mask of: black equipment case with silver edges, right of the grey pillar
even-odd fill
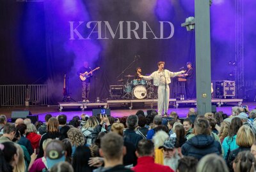
[[[220,99],[234,98],[236,96],[236,83],[227,80],[215,82],[215,95],[216,98]]]

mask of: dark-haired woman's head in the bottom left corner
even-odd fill
[[[4,163],[1,163],[0,166],[2,166],[2,168],[5,168],[8,172],[13,171],[14,167],[19,161],[19,152],[17,150],[17,147],[15,147],[15,143],[13,143],[12,141],[0,143],[0,152],[3,152],[4,157]],[[1,157],[2,156],[0,156],[0,159]]]

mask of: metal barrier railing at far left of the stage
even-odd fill
[[[47,85],[0,85],[1,106],[47,105]]]

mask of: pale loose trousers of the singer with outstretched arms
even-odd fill
[[[163,115],[164,112],[168,111],[169,107],[169,98],[170,98],[170,88],[169,85],[159,85],[157,89],[158,94],[158,101],[157,101],[157,108],[158,108],[158,115]],[[164,112],[163,112],[164,110]]]

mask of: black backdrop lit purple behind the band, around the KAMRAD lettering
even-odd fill
[[[193,16],[179,1],[48,1],[19,3],[14,0],[0,1],[1,36],[1,84],[49,85],[51,104],[62,99],[63,75],[69,78],[71,97],[81,98],[81,83],[76,75],[83,61],[89,61],[91,68],[100,66],[92,79],[90,99],[107,98],[109,85],[116,85],[116,78],[133,61],[140,59],[125,71],[134,74],[140,66],[143,73],[157,69],[158,61],[165,61],[166,68],[179,71],[186,62],[195,62],[195,32],[187,32],[180,24],[186,17]],[[193,4],[191,4],[193,6]],[[119,21],[147,21],[159,35],[159,21],[170,21],[175,32],[171,39],[94,39],[70,40],[70,21],[108,21],[113,30]],[[214,21],[211,21],[213,23]],[[170,31],[164,28],[166,32]],[[79,28],[82,34],[88,33]],[[125,31],[125,29],[124,29]],[[234,31],[223,45],[212,40],[212,78],[227,79],[221,54],[229,51],[234,55]],[[214,37],[214,36],[213,36]],[[218,74],[216,74],[218,73]],[[95,85],[95,88],[94,88]]]

